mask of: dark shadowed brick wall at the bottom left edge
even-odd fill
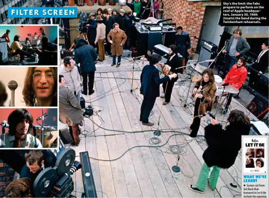
[[[13,181],[15,171],[0,159],[0,197],[5,196],[6,186]]]

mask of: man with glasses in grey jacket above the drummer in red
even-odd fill
[[[231,36],[228,43],[225,45],[222,53],[227,53],[226,56],[226,67],[228,71],[230,68],[236,64],[239,57],[244,57],[245,52],[250,49],[247,39],[242,37],[242,30],[236,29],[233,31],[233,36]]]

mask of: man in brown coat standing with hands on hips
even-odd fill
[[[121,65],[122,55],[124,53],[123,45],[127,40],[127,36],[124,31],[120,29],[118,23],[115,22],[113,24],[113,28],[114,29],[110,30],[110,32],[108,33],[107,40],[111,44],[111,53],[113,56],[113,63],[111,66],[116,65],[116,56],[118,56],[118,62],[116,67],[119,67]]]

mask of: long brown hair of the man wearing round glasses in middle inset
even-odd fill
[[[28,107],[34,107],[35,106],[35,92],[32,88],[32,83],[33,83],[33,74],[34,70],[36,67],[28,67],[25,79],[24,79],[24,86],[22,89],[22,95],[23,95],[23,100]],[[52,107],[55,105],[57,106],[57,82],[58,82],[58,76],[57,76],[57,67],[50,67],[51,72],[53,74],[53,79],[54,79],[54,87],[52,91],[53,99],[52,99]]]

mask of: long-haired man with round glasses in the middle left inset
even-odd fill
[[[22,95],[28,107],[57,107],[57,67],[28,67]]]

